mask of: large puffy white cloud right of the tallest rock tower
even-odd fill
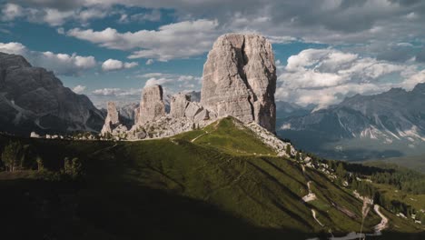
[[[424,76],[414,65],[392,64],[332,48],[306,49],[287,62],[280,70],[276,98],[319,108],[337,104],[349,95],[411,88]]]

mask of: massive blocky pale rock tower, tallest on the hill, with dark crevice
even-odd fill
[[[232,115],[275,132],[276,67],[261,35],[222,35],[203,66],[201,104],[218,117]]]

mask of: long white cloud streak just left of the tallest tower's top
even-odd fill
[[[129,58],[152,58],[167,61],[201,55],[217,37],[217,21],[200,19],[163,25],[158,30],[119,33],[114,28],[103,31],[74,28],[67,35],[110,49],[133,50]]]

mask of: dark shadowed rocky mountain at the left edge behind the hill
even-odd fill
[[[0,131],[19,135],[100,131],[104,115],[44,68],[0,53]]]

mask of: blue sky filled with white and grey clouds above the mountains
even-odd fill
[[[324,108],[425,82],[422,0],[0,1],[0,52],[54,71],[95,105],[145,85],[199,91],[218,36],[272,42],[276,99]]]

